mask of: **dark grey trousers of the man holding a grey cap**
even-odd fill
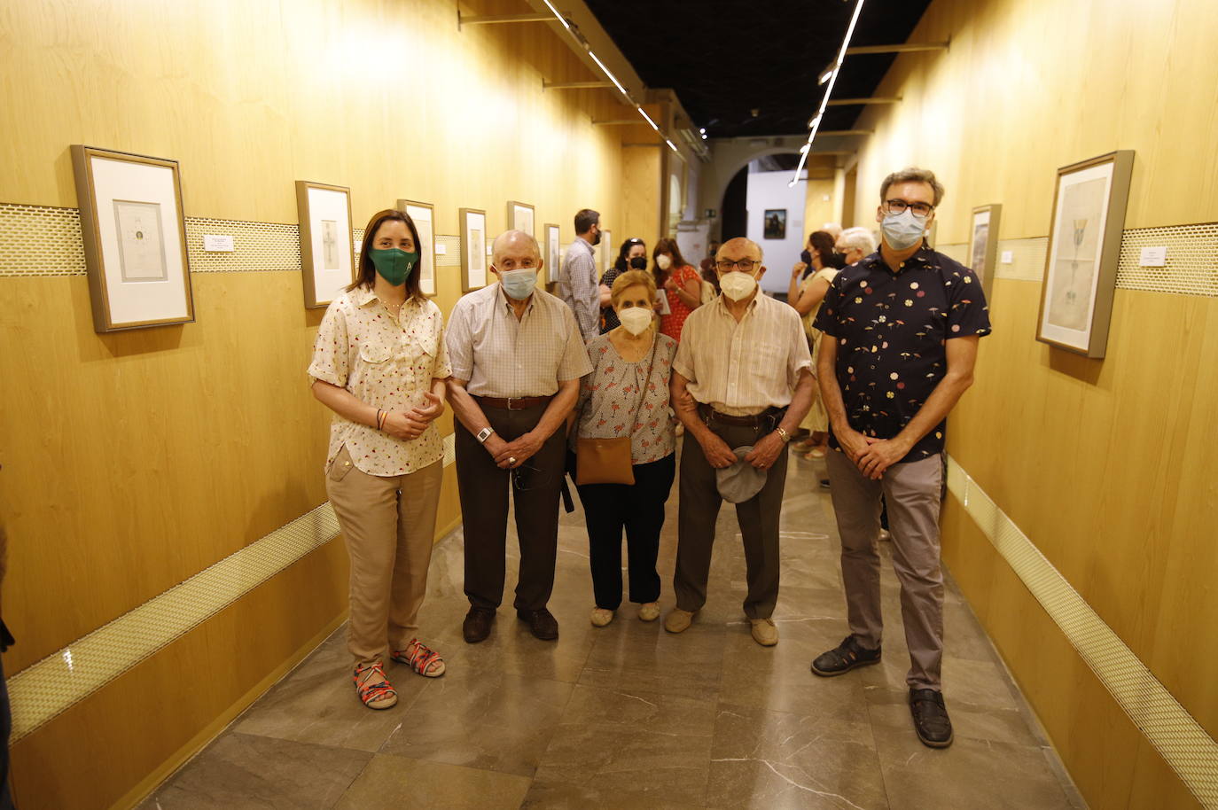
[[[709,426],[732,448],[755,445],[761,436],[773,430],[770,420],[758,428],[725,425],[714,420]],[[787,451],[783,448],[778,460],[770,468],[761,491],[736,504],[749,585],[744,598],[744,615],[749,619],[769,619],[778,602],[778,516],[786,482]],[[698,440],[688,434],[681,451],[680,493],[677,565],[672,590],[676,592],[677,607],[694,611],[706,603],[715,521],[723,498],[715,485],[715,468],[706,460]]]

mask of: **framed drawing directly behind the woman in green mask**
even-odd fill
[[[351,189],[296,180],[296,213],[301,228],[304,308],[320,309],[356,280]],[[365,238],[371,239],[373,234]]]

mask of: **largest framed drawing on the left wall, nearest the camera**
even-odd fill
[[[93,328],[195,319],[178,161],[72,146]]]

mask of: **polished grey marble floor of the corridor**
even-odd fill
[[[447,674],[391,665],[393,709],[359,704],[340,629],[143,808],[1083,808],[993,646],[949,581],[946,750],[910,725],[899,590],[884,568],[884,661],[832,680],[811,659],[845,635],[823,463],[792,458],[783,505],[781,641],[759,647],[741,613],[744,557],[720,514],[709,598],[667,635],[625,604],[588,622],[579,510],[563,515],[551,609],[557,643],[501,609],[490,639],[460,638],[460,532],[437,547],[421,615]],[[671,607],[676,487],[660,551]],[[509,540],[509,547],[514,540]],[[887,557],[887,543],[882,543]],[[514,563],[509,560],[505,604]]]

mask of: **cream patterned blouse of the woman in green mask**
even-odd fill
[[[452,374],[443,333],[435,302],[408,298],[395,318],[369,287],[356,287],[325,311],[308,374],[381,410],[426,406],[423,393],[431,381]],[[354,465],[369,475],[407,475],[445,456],[435,424],[407,440],[334,414],[326,469],[343,445]]]

